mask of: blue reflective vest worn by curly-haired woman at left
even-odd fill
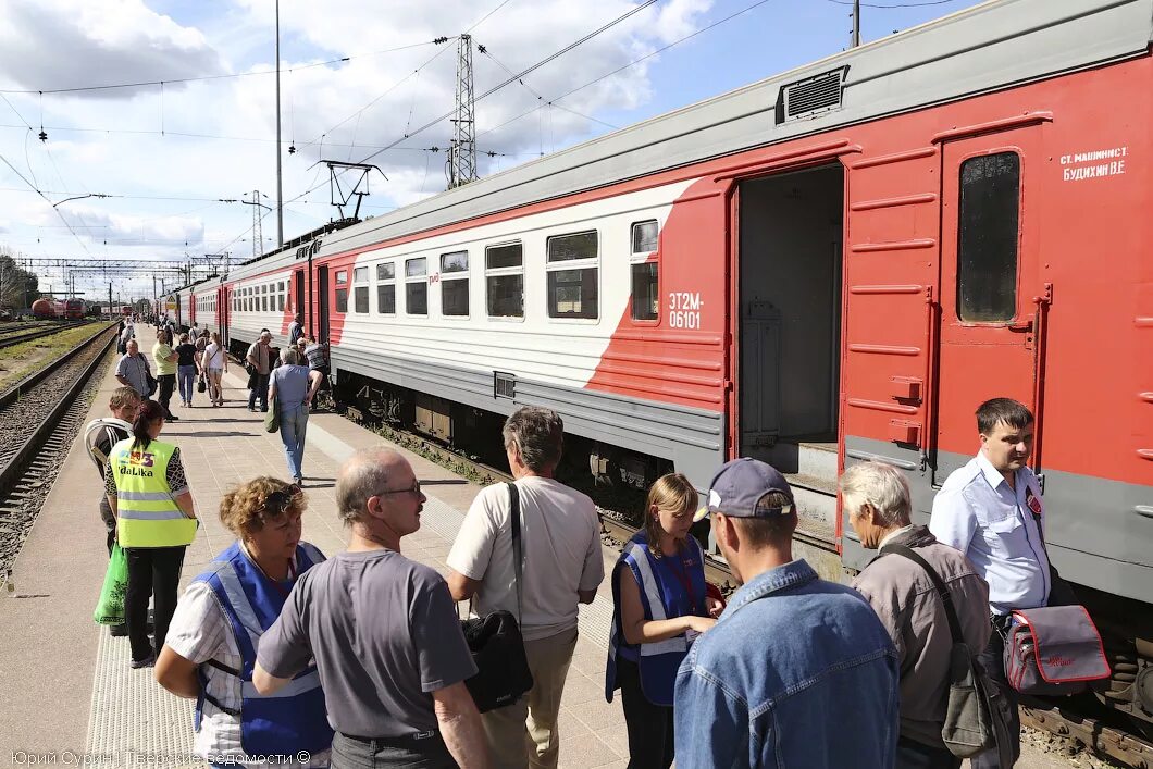
[[[315,546],[303,542],[296,545],[297,574],[303,574],[323,560],[324,555]],[[208,700],[240,721],[241,747],[250,756],[287,755],[300,751],[321,753],[329,749],[332,745],[332,727],[329,726],[316,665],[309,665],[292,683],[269,696],[257,692],[253,685],[261,635],[280,616],[287,596],[249,560],[239,542],[217,556],[209,570],[194,581],[204,582],[212,588],[243,661],[241,670],[232,670],[214,661],[205,663],[240,679],[239,711],[221,707],[211,699],[206,693],[203,670],[198,671],[201,695],[196,700],[196,731],[201,729],[204,702]]]

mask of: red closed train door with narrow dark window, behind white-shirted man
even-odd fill
[[[1048,288],[1034,201],[1045,158],[1040,119],[1013,123],[935,138],[942,144],[935,485],[977,452],[974,412],[989,398],[1033,410],[1034,469],[1040,465]]]

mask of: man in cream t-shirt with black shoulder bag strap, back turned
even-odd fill
[[[512,612],[525,639],[533,688],[482,716],[495,763],[556,767],[557,716],[576,646],[576,606],[591,603],[604,579],[601,522],[591,499],[553,478],[564,438],[556,412],[520,408],[503,433],[517,482],[490,485],[473,500],[449,553],[449,587],[457,601],[473,598],[481,617]],[[520,600],[510,485],[520,500]]]

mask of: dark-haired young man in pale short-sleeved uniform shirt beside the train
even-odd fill
[[[933,500],[929,531],[965,553],[989,585],[993,634],[978,657],[1012,703],[1019,734],[1017,693],[1004,677],[1004,639],[1015,609],[1075,603],[1069,586],[1049,566],[1045,549],[1041,485],[1028,468],[1033,414],[1011,398],[987,400],[977,409],[981,450],[954,470]],[[1057,583],[1054,585],[1054,581]],[[1013,746],[1013,760],[1020,744]],[[996,751],[971,759],[974,769],[998,767]]]

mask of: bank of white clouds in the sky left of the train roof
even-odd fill
[[[284,149],[295,141],[299,150],[281,156],[284,197],[291,201],[319,186],[287,205],[286,238],[337,216],[326,205],[327,169],[315,165],[321,158],[361,160],[400,140],[399,148],[370,160],[389,181],[371,180],[374,195],[366,199],[362,217],[444,189],[451,123],[445,120],[404,137],[452,110],[457,42],[383,51],[454,36],[497,5],[497,0],[409,0],[382,7],[368,0],[281,0]],[[519,71],[635,5],[512,0],[473,31],[474,43],[489,51],[489,55],[474,51],[476,93],[508,77],[497,61]],[[702,23],[710,5],[711,0],[662,0],[535,70],[525,83],[545,100],[572,91],[688,33]],[[164,6],[169,15],[153,7],[142,0],[0,3],[0,86],[35,90],[265,73],[274,65],[271,2],[169,0]],[[309,66],[341,55],[352,59]],[[638,107],[650,98],[648,68],[656,61],[628,68],[559,104],[586,115]],[[559,107],[513,120],[541,104],[529,88],[513,83],[477,104],[478,149],[502,153],[482,156],[482,173],[604,133],[604,126]],[[240,198],[253,189],[276,196],[271,75],[168,84],[163,93],[158,86],[148,86],[43,100],[35,95],[8,95],[8,99],[20,114],[0,101],[0,123],[16,126],[0,128],[0,154],[40,189],[51,190],[53,202],[86,193],[134,196],[61,206],[77,225],[82,246],[35,195],[3,191],[25,184],[0,164],[0,205],[27,213],[12,214],[17,224],[3,239],[15,249],[77,257],[85,256],[85,248],[93,256],[151,249],[160,259],[181,257],[186,250],[224,248],[239,258],[250,255],[251,208],[216,201]],[[338,126],[349,115],[355,116]],[[48,133],[46,145],[35,138],[42,120]],[[23,121],[33,130],[24,128]],[[502,126],[507,121],[512,122]],[[432,146],[440,151],[423,151]],[[161,197],[189,199],[141,199]],[[81,229],[80,225],[85,226]],[[276,238],[274,213],[265,217],[263,228],[266,240]]]

